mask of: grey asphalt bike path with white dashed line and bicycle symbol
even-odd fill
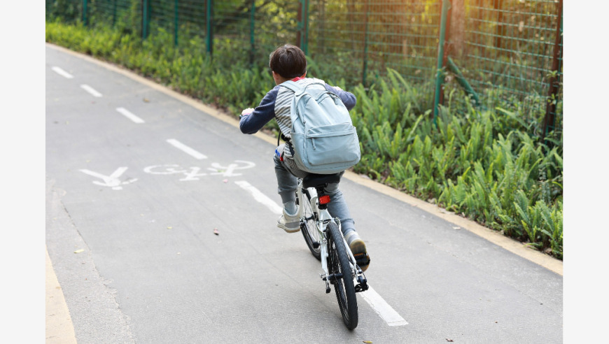
[[[302,234],[276,227],[268,139],[52,45],[45,80],[48,276],[69,312],[48,307],[62,320],[48,341],[562,342],[555,263],[352,173],[372,290],[348,331]]]

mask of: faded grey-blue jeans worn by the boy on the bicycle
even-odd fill
[[[296,168],[293,161],[284,159],[283,162],[279,160],[277,155],[273,155],[275,162],[275,175],[277,176],[277,185],[279,196],[281,196],[281,202],[287,203],[290,201],[296,201],[296,189],[298,187],[297,178],[304,178],[309,173],[300,171]],[[290,162],[292,164],[290,164]],[[344,171],[340,173],[341,177]],[[350,231],[355,231],[355,222],[351,213],[349,213],[349,207],[346,206],[346,201],[342,192],[338,189],[337,182],[330,183],[323,190],[328,196],[330,196],[330,203],[328,203],[328,211],[333,217],[340,219],[341,229],[343,234],[347,234]]]

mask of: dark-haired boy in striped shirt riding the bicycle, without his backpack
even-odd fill
[[[239,128],[244,134],[254,134],[272,119],[279,124],[281,135],[286,138],[286,144],[278,149],[279,155],[274,155],[275,175],[278,192],[283,203],[283,215],[277,220],[277,227],[288,233],[300,231],[300,219],[297,217],[296,196],[297,178],[304,178],[309,173],[297,168],[293,159],[293,147],[290,144],[290,103],[294,92],[286,87],[279,87],[281,83],[292,80],[300,87],[313,83],[314,79],[307,76],[307,59],[304,52],[295,45],[283,45],[269,56],[269,66],[272,70],[276,86],[271,89],[260,101],[260,105],[243,110],[240,116]],[[317,80],[318,81],[318,80]],[[356,97],[339,87],[325,84],[328,91],[339,96],[344,106],[351,110],[356,105]],[[340,172],[342,176],[344,171]],[[355,229],[355,222],[349,213],[344,196],[338,188],[339,183],[330,183],[324,191],[330,196],[332,202],[328,204],[330,213],[340,219],[342,232],[353,255],[367,255],[366,245]],[[360,266],[362,271],[367,265]]]

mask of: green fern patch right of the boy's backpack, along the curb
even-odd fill
[[[449,102],[436,128],[422,96],[391,70],[353,92],[358,173],[562,257],[562,140],[547,145],[538,118]],[[483,96],[493,105],[501,98],[496,90]]]

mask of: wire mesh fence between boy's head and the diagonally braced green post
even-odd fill
[[[395,69],[412,81],[433,78],[439,1],[311,1],[309,55],[368,84]]]

